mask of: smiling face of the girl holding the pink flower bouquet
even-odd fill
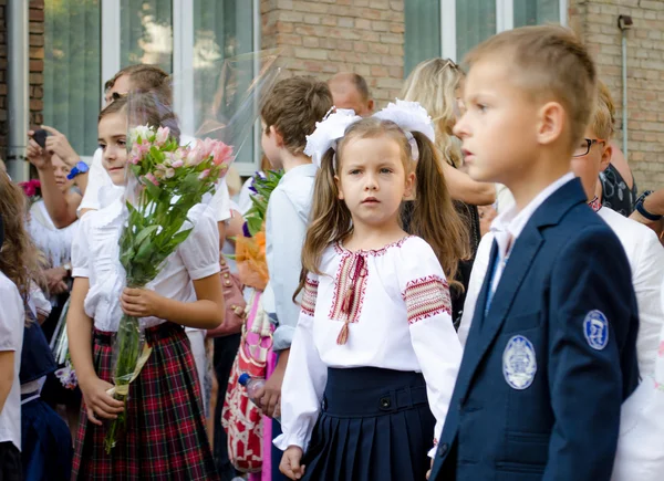
[[[103,150],[104,168],[116,186],[126,184],[127,116],[124,112],[108,114],[100,121],[98,143]]]

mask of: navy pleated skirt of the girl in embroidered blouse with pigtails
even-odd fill
[[[424,481],[435,422],[422,374],[329,368],[302,479]]]

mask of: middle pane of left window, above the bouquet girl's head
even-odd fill
[[[121,66],[153,63],[173,73],[173,0],[122,0]]]

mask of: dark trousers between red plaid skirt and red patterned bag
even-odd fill
[[[215,464],[221,477],[221,481],[232,480],[238,472],[228,458],[228,446],[226,430],[221,426],[221,411],[224,410],[224,400],[226,399],[226,388],[232,363],[240,348],[240,334],[222,336],[215,338],[215,374],[219,390],[217,396],[217,407],[215,408]]]

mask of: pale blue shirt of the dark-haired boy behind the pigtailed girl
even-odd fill
[[[277,314],[274,351],[290,347],[300,306],[292,300],[302,269],[302,244],[309,226],[318,168],[298,166],[283,175],[270,195],[266,218],[266,261],[270,280],[263,294],[267,313]]]

